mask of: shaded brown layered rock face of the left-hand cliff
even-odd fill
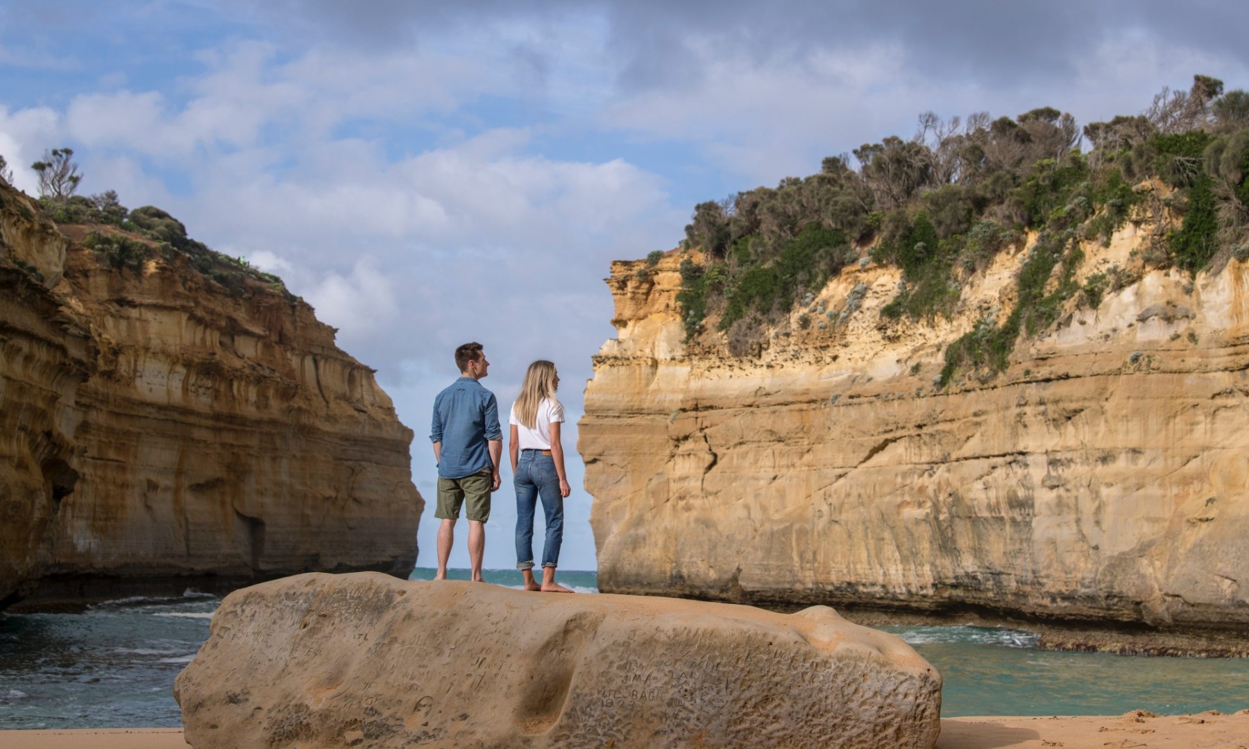
[[[412,432],[311,307],[0,202],[0,604],[411,570]]]

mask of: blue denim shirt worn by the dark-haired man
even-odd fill
[[[433,399],[430,442],[442,443],[442,478],[463,478],[492,468],[486,441],[502,438],[495,393],[472,377],[456,379]]]

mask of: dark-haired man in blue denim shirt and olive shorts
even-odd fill
[[[433,517],[438,527],[438,573],[447,579],[447,559],[455,539],[461,504],[467,504],[468,561],[472,579],[483,582],[481,559],[486,552],[486,521],[490,519],[490,494],[498,489],[498,462],[503,454],[503,431],[498,426],[495,393],[481,386],[490,362],[481,343],[456,348],[460,379],[433,399],[433,426],[430,442],[438,464],[438,502]]]

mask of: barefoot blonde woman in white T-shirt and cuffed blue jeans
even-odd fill
[[[555,365],[538,360],[530,365],[521,394],[507,417],[511,439],[512,482],[516,487],[516,568],[525,575],[526,590],[572,593],[555,582],[563,543],[563,498],[572,493],[563,471],[560,427],[563,406],[555,397],[560,374]],[[538,497],[546,514],[546,544],[542,547],[542,583],[533,579],[533,509]]]

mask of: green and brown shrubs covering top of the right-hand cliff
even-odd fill
[[[909,139],[864,144],[824,159],[816,175],[698,203],[682,242],[687,340],[718,330],[732,353],[752,356],[767,328],[853,262],[901,268],[886,318],[948,316],[974,273],[1030,240],[1015,308],[952,343],[942,381],[967,367],[1000,371],[1020,336],[1125,282],[1094,275],[1077,283],[1080,245],[1109,243],[1144,215],[1159,227],[1147,267],[1197,273],[1249,258],[1249,92],[1197,75],[1140,114],[1083,129],[1049,106],[1013,119],[924,112]]]

